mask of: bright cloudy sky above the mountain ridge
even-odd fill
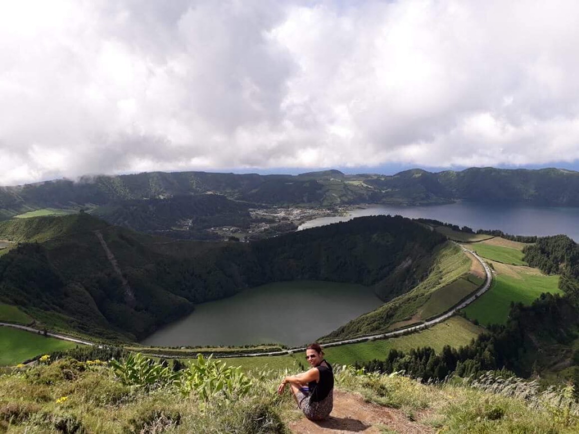
[[[0,0],[0,185],[574,168],[577,23],[574,0]]]

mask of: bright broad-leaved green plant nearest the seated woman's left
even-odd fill
[[[179,382],[183,395],[195,393],[205,403],[219,398],[240,398],[250,392],[252,385],[251,379],[241,372],[241,367],[227,366],[211,357],[204,359],[202,355],[198,355],[197,361],[182,372]]]

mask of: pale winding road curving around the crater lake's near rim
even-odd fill
[[[321,344],[321,346],[326,347],[326,348],[327,347],[337,347],[338,345],[355,344],[358,342],[364,342],[364,341],[375,340],[375,339],[386,339],[389,337],[401,336],[402,334],[406,334],[406,333],[418,332],[420,330],[427,329],[435,324],[438,324],[438,323],[445,321],[446,319],[452,317],[452,315],[456,314],[456,312],[459,311],[460,309],[468,306],[468,304],[472,303],[474,300],[476,300],[479,296],[481,296],[483,293],[485,293],[490,288],[490,284],[492,282],[493,277],[492,277],[492,272],[489,269],[489,266],[482,260],[482,258],[480,256],[477,255],[477,253],[475,253],[467,248],[464,248],[464,247],[462,247],[462,249],[465,252],[471,253],[471,255],[474,256],[474,258],[477,259],[478,262],[480,262],[482,264],[483,268],[485,269],[485,274],[486,274],[485,284],[482,285],[481,288],[479,288],[477,290],[477,292],[468,296],[467,299],[464,299],[456,306],[450,308],[450,310],[446,311],[444,314],[439,315],[438,317],[435,317],[433,319],[429,319],[428,321],[422,322],[422,323],[417,324],[417,325],[411,325],[411,326],[408,326],[405,328],[393,330],[391,332],[386,332],[386,333],[371,334],[369,336],[362,336],[362,337],[356,337],[354,339],[345,339],[345,340],[335,341],[332,343]],[[34,333],[39,333],[39,332],[43,333],[42,330],[34,329],[32,327],[29,327],[29,326],[22,326],[22,325],[7,323],[7,322],[0,322],[0,326],[8,326],[8,327],[21,329],[21,330],[28,330],[29,332],[34,332]],[[56,337],[57,339],[63,339],[63,340],[71,341],[71,342],[76,342],[79,344],[96,345],[93,342],[82,340],[82,339],[76,339],[74,337],[64,336],[63,334],[46,333],[46,336]],[[278,355],[293,354],[294,352],[305,351],[305,350],[306,350],[306,348],[290,348],[289,350],[271,351],[271,352],[255,352],[255,353],[240,352],[240,353],[232,353],[232,354],[227,354],[227,355],[219,355],[219,358],[278,356]],[[167,355],[167,354],[148,354],[148,355],[157,356],[157,357],[164,357],[164,358],[178,358],[178,356]]]

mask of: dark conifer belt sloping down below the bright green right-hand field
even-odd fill
[[[541,369],[540,365],[529,364],[536,360],[537,351],[544,351],[544,347],[536,347],[538,342],[569,345],[577,338],[577,306],[570,306],[568,300],[556,295],[545,294],[532,306],[514,304],[510,317],[506,326],[490,326],[490,333],[483,333],[458,349],[446,346],[439,353],[429,347],[408,353],[391,350],[387,359],[361,366],[380,372],[405,370],[424,381],[441,380],[450,373],[468,377],[505,369],[528,377],[533,370]],[[579,386],[579,376],[574,380]]]

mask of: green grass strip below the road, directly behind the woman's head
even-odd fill
[[[422,332],[391,339],[330,347],[326,348],[324,353],[328,361],[334,365],[353,365],[357,361],[368,362],[373,359],[384,359],[388,352],[394,348],[403,351],[417,347],[432,347],[436,351],[442,351],[445,345],[458,348],[461,345],[469,344],[484,330],[464,318],[452,317],[430,329],[422,330]],[[241,366],[247,370],[261,369],[266,365],[269,369],[296,369],[300,362],[303,366],[307,366],[303,351],[289,356],[237,357],[222,360],[228,365]]]

